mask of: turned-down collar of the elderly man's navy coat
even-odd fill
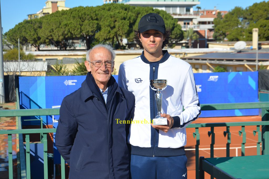
[[[93,78],[93,75],[90,72],[88,72],[86,76],[86,80],[81,84],[81,87],[82,89],[84,89],[83,90],[84,93],[82,94],[84,101],[86,101],[91,96],[95,96],[100,99],[103,99],[102,94],[100,92],[100,88],[97,86]],[[124,97],[121,89],[119,88],[118,84],[116,83],[115,78],[112,75],[108,81],[108,87],[109,87],[109,92],[108,92],[109,98],[107,98],[107,101],[111,100],[115,92],[120,93],[121,96]]]

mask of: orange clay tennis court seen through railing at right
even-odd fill
[[[239,116],[239,117],[217,117],[217,118],[198,118],[193,123],[217,123],[217,122],[250,122],[261,121],[261,116]],[[230,156],[241,156],[241,143],[242,135],[239,136],[239,130],[241,126],[230,127],[231,144],[230,144]],[[245,126],[246,132],[246,144],[245,144],[245,156],[257,155],[257,141],[258,136],[253,135],[253,130],[256,130],[256,126]],[[260,129],[261,130],[261,129]],[[208,137],[208,131],[210,127],[200,127],[200,145],[199,156],[205,158],[210,157],[210,144],[211,136]],[[214,157],[226,157],[226,143],[227,136],[224,137],[223,132],[226,131],[226,127],[214,127],[215,144],[214,144]],[[196,139],[193,138],[194,128],[187,128],[187,145],[185,146],[187,162],[187,176],[192,179],[195,178],[195,144]],[[205,178],[210,178],[210,175],[205,172]]]

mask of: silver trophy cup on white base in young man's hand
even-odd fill
[[[154,91],[157,91],[155,94],[156,104],[158,115],[153,119],[153,125],[167,125],[167,118],[161,117],[162,114],[162,93],[161,90],[164,90],[167,86],[166,79],[151,79],[150,87]]]

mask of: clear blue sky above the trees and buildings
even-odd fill
[[[27,19],[27,14],[33,14],[45,6],[46,0],[0,0],[1,20],[4,33],[13,28],[19,22]],[[201,9],[231,10],[235,6],[246,8],[261,0],[200,0]],[[98,6],[103,0],[66,0],[65,6],[73,8],[76,6]],[[196,10],[196,8],[195,8]]]

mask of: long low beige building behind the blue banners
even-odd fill
[[[237,52],[229,48],[200,48],[200,49],[167,49],[169,54],[178,59],[188,62],[194,73],[211,73],[217,66],[224,67],[228,72],[255,71],[256,70],[256,50],[243,50]],[[258,53],[258,65],[269,70],[269,49],[261,49]],[[139,50],[115,50],[115,75],[118,74],[119,66],[126,60],[136,58],[141,55]],[[75,67],[76,61],[82,62],[86,55],[84,51],[35,51],[26,52],[33,54],[37,61],[46,62],[53,67],[55,63],[63,63],[68,70]],[[38,68],[37,71],[44,71]],[[33,75],[33,73],[32,73]],[[43,74],[44,75],[44,74]]]

